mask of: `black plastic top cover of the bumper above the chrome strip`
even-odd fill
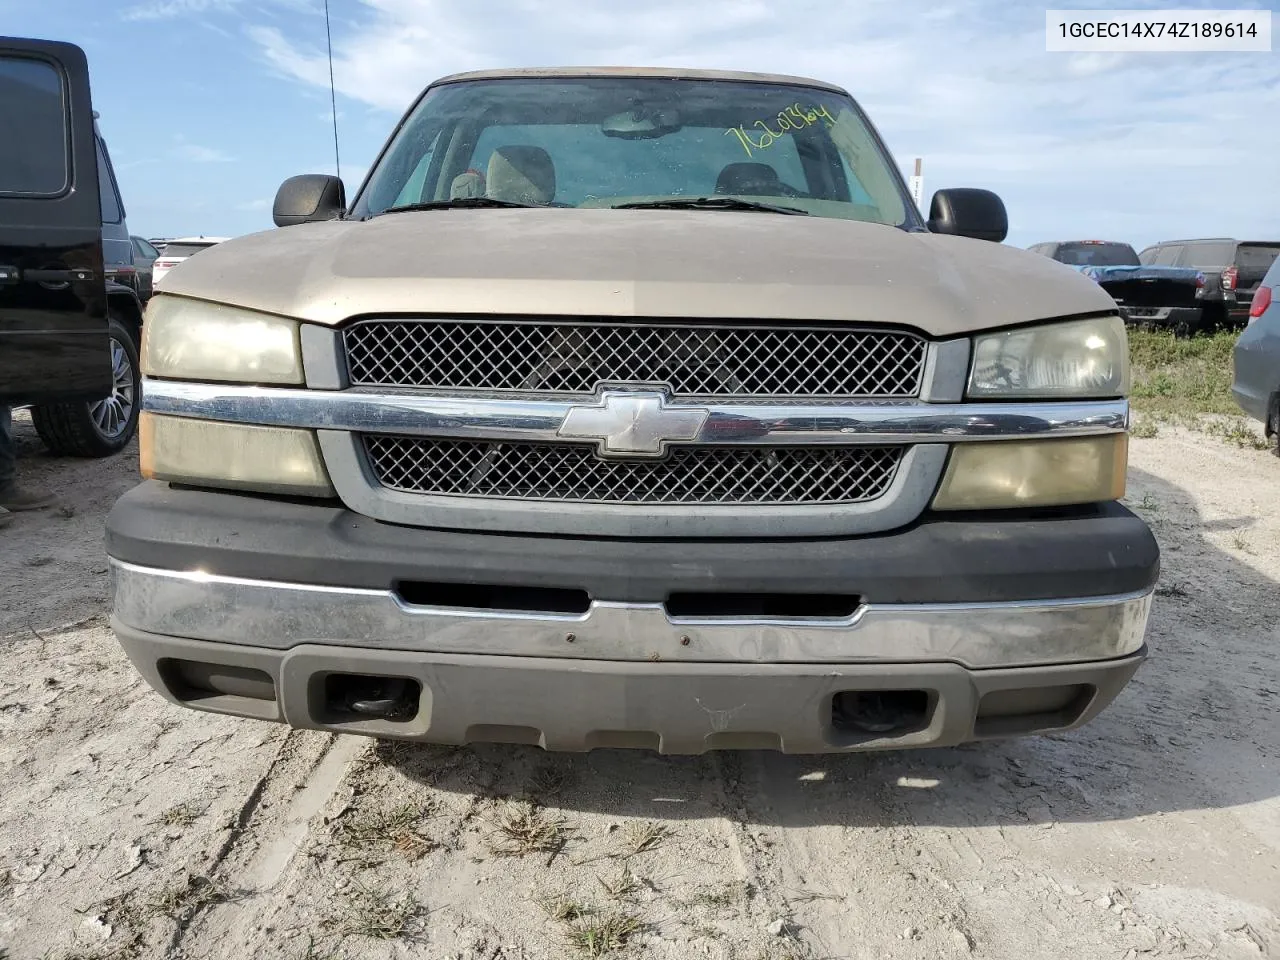
[[[108,553],[164,570],[330,586],[402,581],[586,590],[662,603],[673,593],[858,594],[869,603],[1108,596],[1151,589],[1160,548],[1119,503],[1028,515],[925,516],[873,536],[617,540],[397,526],[317,502],[147,481],[116,502]]]

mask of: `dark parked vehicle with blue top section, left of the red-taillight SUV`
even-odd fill
[[[1204,325],[1204,274],[1188,266],[1143,265],[1128,243],[1053,241],[1028,247],[1075,268],[1111,294],[1126,323],[1197,333]]]

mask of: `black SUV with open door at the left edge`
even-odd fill
[[[0,37],[0,403],[55,453],[100,457],[138,422],[142,303],[84,52]]]

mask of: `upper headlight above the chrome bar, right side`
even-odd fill
[[[974,339],[969,397],[1088,399],[1129,393],[1124,320],[1103,316]]]

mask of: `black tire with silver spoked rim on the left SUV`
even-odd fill
[[[49,403],[31,408],[31,422],[51,453],[61,457],[110,457],[133,439],[142,408],[142,371],[137,338],[114,314],[111,393],[91,403]]]

